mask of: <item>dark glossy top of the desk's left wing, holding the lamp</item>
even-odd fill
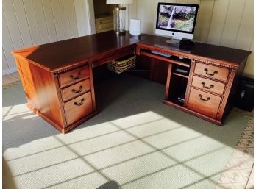
[[[141,35],[141,38],[130,38],[126,35],[115,35],[115,32],[102,32],[70,40],[62,40],[13,51],[15,56],[25,58],[31,63],[49,71],[84,63],[113,53],[117,49],[136,45],[141,40],[154,38],[154,35]]]

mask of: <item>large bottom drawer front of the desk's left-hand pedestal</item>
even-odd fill
[[[91,93],[85,93],[64,104],[68,125],[93,112]]]

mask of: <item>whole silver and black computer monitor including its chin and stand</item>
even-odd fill
[[[192,40],[198,9],[198,4],[158,3],[155,33],[172,37],[168,43]]]

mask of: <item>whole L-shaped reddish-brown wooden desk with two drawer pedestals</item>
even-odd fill
[[[68,132],[96,115],[92,69],[135,53],[169,64],[165,104],[221,125],[251,52],[205,43],[186,50],[166,40],[154,35],[132,38],[128,32],[118,36],[110,31],[13,54],[28,107],[60,132]],[[184,101],[177,101],[182,94]]]

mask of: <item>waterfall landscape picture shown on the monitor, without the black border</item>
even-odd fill
[[[196,7],[161,4],[158,14],[157,25],[159,28],[192,32]]]

